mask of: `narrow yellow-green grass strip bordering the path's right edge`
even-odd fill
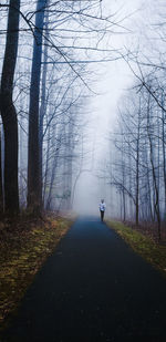
[[[120,221],[108,220],[107,225],[115,229],[137,253],[166,276],[166,246],[156,243],[149,237]]]

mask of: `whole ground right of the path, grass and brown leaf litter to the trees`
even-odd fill
[[[107,220],[107,225],[141,255],[166,277],[166,238],[163,229],[163,239],[158,242],[154,227],[136,227],[128,222]]]

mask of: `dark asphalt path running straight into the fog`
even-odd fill
[[[35,277],[4,341],[166,342],[166,280],[105,224],[79,219]]]

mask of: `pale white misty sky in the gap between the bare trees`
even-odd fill
[[[159,1],[159,4],[162,7],[163,1]],[[117,12],[116,18],[123,19],[122,25],[126,29],[123,33],[112,34],[112,46],[133,50],[139,45],[142,50],[147,49],[146,34],[147,37],[151,34],[148,32],[149,24],[157,20],[158,7],[156,1],[147,0],[145,3],[142,0],[105,0],[103,6],[110,10],[112,8],[114,13]],[[96,65],[94,65],[94,70],[96,70]],[[91,115],[89,124],[91,146],[95,141],[94,168],[97,168],[98,164],[102,163],[101,160],[106,158],[108,144],[106,137],[108,132],[113,131],[116,122],[118,102],[121,96],[132,86],[134,80],[127,63],[123,59],[97,64],[97,71],[100,75],[93,84],[93,89],[101,95],[93,96],[87,103]],[[91,168],[91,165],[86,160],[85,168],[89,167]],[[98,201],[106,196],[103,180],[97,179],[95,174],[96,169],[93,173],[83,173],[80,177],[75,194],[75,209],[79,209],[79,211],[92,213],[93,210],[93,214],[97,214]]]

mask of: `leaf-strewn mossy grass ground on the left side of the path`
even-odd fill
[[[18,225],[0,226],[0,327],[6,328],[34,274],[52,253],[72,221],[48,217]],[[21,227],[20,227],[21,226]]]

